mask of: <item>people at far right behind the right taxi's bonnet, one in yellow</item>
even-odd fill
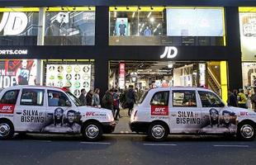
[[[243,89],[229,91],[228,105],[241,108],[250,108],[256,112],[256,87],[254,92],[245,94]]]

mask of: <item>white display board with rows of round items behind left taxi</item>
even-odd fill
[[[47,64],[46,85],[69,87],[76,97],[81,89],[88,92],[91,87],[91,64]]]

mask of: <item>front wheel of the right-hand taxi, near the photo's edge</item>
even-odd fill
[[[238,125],[237,137],[241,140],[251,141],[255,139],[255,125],[252,122],[244,122]]]

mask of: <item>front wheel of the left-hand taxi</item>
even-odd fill
[[[83,125],[83,138],[87,141],[98,141],[102,138],[102,125],[96,121],[91,121]]]

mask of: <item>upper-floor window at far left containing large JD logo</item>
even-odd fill
[[[0,45],[37,45],[38,7],[0,8]]]

